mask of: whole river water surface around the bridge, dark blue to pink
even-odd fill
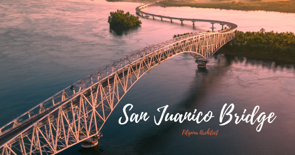
[[[117,9],[135,14],[139,3],[102,0],[2,0],[0,1],[0,126],[34,107],[56,92],[125,55],[171,39],[174,34],[205,32],[210,23],[171,23],[142,20],[133,30],[109,29],[109,12]],[[146,12],[171,17],[223,20],[238,30],[294,32],[295,14],[263,11],[196,9],[152,6]],[[215,24],[216,30],[221,29]],[[294,154],[295,151],[295,63],[258,58],[214,55],[206,71],[199,71],[194,58],[180,54],[143,76],[112,112],[101,132],[99,145],[91,149],[79,144],[59,154]],[[220,126],[223,105],[234,104],[232,114],[255,118],[274,112],[272,123],[260,132],[253,125],[234,119]],[[150,118],[120,125],[127,112],[147,112]],[[164,120],[159,107],[169,105],[171,114],[212,111],[208,122],[183,123]],[[204,116],[204,115],[203,115]],[[202,117],[201,117],[202,118]],[[229,117],[224,116],[223,122]],[[218,130],[218,135],[182,135],[183,130]]]

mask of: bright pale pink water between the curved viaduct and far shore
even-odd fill
[[[193,18],[193,19],[212,19],[225,22],[232,22],[238,25],[238,30],[242,31],[259,31],[264,28],[266,31],[295,31],[295,14],[266,12],[266,11],[237,11],[237,10],[220,10],[220,9],[204,9],[192,7],[160,7],[151,6],[143,9],[143,11],[160,14],[170,17]],[[180,21],[173,21],[180,22]],[[192,25],[191,22],[184,24]],[[209,29],[210,23],[196,22],[196,27]],[[216,30],[221,29],[219,24],[215,24]]]

